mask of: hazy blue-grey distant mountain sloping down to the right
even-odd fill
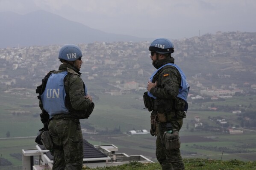
[[[25,15],[0,13],[0,48],[143,40],[150,39],[109,34],[42,10]]]

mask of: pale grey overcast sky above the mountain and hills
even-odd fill
[[[104,32],[137,37],[256,32],[256,0],[0,0],[0,12],[40,9]]]

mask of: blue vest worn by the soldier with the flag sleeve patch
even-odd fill
[[[187,102],[187,98],[188,98],[188,91],[189,91],[189,84],[187,82],[186,76],[184,74],[184,72],[182,72],[182,70],[179,68],[179,66],[177,66],[176,64],[173,63],[168,63],[163,65],[162,67],[160,67],[159,69],[157,69],[151,76],[150,76],[150,81],[153,81],[153,77],[154,75],[160,70],[162,69],[164,66],[174,66],[178,69],[179,74],[181,75],[181,88],[179,88],[179,94],[177,95],[178,98],[182,98],[185,102],[186,102],[186,106],[184,111],[188,110],[188,102]],[[156,96],[152,95],[150,92],[147,92],[147,95],[149,95],[150,97],[156,99]]]

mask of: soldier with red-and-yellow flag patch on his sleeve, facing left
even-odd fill
[[[149,47],[150,58],[157,69],[147,82],[145,107],[151,112],[150,134],[156,138],[156,158],[162,170],[184,170],[180,154],[179,130],[188,109],[189,85],[185,74],[174,64],[170,40],[158,38]]]

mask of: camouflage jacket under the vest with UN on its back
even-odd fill
[[[81,73],[73,66],[68,64],[61,64],[58,71],[54,73],[68,71],[68,75],[64,79],[65,86],[65,106],[70,112],[85,112],[91,104],[89,99],[85,99],[84,83],[81,78]],[[43,109],[41,101],[39,107]]]

